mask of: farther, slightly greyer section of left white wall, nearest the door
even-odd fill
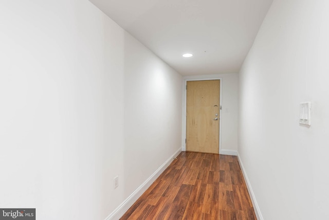
[[[124,195],[181,150],[181,82],[171,67],[125,34]]]

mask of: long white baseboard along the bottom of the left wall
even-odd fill
[[[181,147],[171,155],[166,162],[164,162],[140,187],[138,187],[129,197],[127,197],[123,203],[120,204],[111,214],[109,214],[105,220],[117,220],[119,219],[134,203],[137,199],[153,184],[153,182],[160,176],[160,174],[166,170],[166,168],[173,161],[173,158],[178,156],[181,152]]]

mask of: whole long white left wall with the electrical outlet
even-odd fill
[[[1,1],[0,21],[0,207],[104,219],[181,146],[181,76],[88,1]]]

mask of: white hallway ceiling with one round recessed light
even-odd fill
[[[239,72],[273,0],[89,1],[181,75],[192,76]]]

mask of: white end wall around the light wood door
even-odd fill
[[[221,154],[236,154],[237,150],[237,114],[239,75],[238,74],[217,74],[206,76],[186,76],[184,79],[209,79],[222,78],[222,130],[221,133]],[[186,98],[185,84],[183,85],[183,97]],[[185,109],[184,109],[185,111]],[[183,113],[185,115],[185,113]],[[183,131],[185,120],[183,120]],[[185,134],[182,145],[185,146]]]

